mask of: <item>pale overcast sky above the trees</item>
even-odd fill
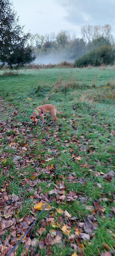
[[[115,36],[115,0],[13,0],[25,31],[45,34],[67,30],[81,36],[83,25],[110,24]]]

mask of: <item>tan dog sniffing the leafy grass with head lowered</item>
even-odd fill
[[[57,121],[58,122],[58,118],[56,116],[56,113],[61,114],[62,112],[58,112],[56,107],[54,105],[51,104],[47,104],[47,105],[42,105],[42,106],[38,106],[37,108],[34,109],[33,114],[30,116],[30,118],[32,119],[34,125],[37,124],[38,122],[38,116],[42,118],[42,125],[44,123],[44,114],[49,112],[51,114],[51,116],[53,117],[53,121]]]

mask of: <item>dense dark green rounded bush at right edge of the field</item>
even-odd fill
[[[113,64],[115,60],[115,50],[108,45],[104,45],[84,54],[81,58],[75,60],[74,67],[86,67],[92,65],[94,67],[100,66],[102,64],[109,65]]]

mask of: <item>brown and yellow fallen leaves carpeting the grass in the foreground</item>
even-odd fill
[[[17,115],[17,110],[16,112],[13,111],[12,115]],[[22,240],[25,251],[21,253],[21,256],[28,255],[28,253],[34,254],[36,246],[40,249],[45,249],[47,247],[48,255],[52,255],[53,245],[58,244],[59,246],[62,246],[63,242],[65,245],[68,242],[70,243],[70,247],[74,250],[72,253],[73,256],[84,255],[85,241],[91,242],[95,237],[95,231],[98,228],[98,216],[101,218],[105,217],[106,206],[102,205],[101,202],[106,202],[108,199],[106,200],[106,197],[103,197],[98,201],[94,201],[91,206],[86,205],[88,197],[84,196],[82,191],[77,192],[73,189],[68,190],[65,184],[64,175],[62,175],[59,180],[55,181],[56,164],[52,164],[54,156],[52,155],[51,149],[49,148],[48,150],[47,148],[47,143],[43,138],[43,133],[40,143],[43,145],[44,150],[51,154],[50,157],[47,153],[42,156],[44,150],[41,148],[39,148],[39,155],[36,156],[34,147],[36,142],[39,141],[38,136],[34,135],[33,139],[32,127],[30,127],[27,122],[24,124],[21,122],[15,122],[15,120],[12,119],[12,115],[9,114],[9,121],[1,121],[0,123],[1,146],[3,147],[1,154],[2,177],[7,178],[4,179],[4,183],[0,190],[0,255],[6,255],[17,241],[24,236],[25,232],[36,219],[37,212],[43,209],[49,201],[50,196],[52,196],[51,202],[45,209],[48,212],[47,216],[41,218],[39,227],[36,229],[35,233],[32,230],[29,231],[27,236]],[[71,120],[73,129],[74,123],[75,122]],[[56,126],[54,133],[54,139],[56,142],[60,142],[58,129],[59,127]],[[50,127],[47,127],[47,133],[48,138],[50,139]],[[19,143],[20,135],[24,138],[21,143]],[[84,136],[81,137],[84,141]],[[7,145],[3,142],[4,139],[7,141]],[[80,165],[82,172],[84,168],[89,168],[93,175],[96,174],[95,171],[92,170],[92,165],[88,164],[87,161],[84,163],[81,162],[81,155],[74,153],[71,143],[79,145],[79,152],[85,150],[80,139],[73,134],[71,139],[62,142],[62,146],[69,146],[69,148],[67,148],[67,150],[63,150],[62,153],[68,152],[72,156],[72,161],[75,161],[76,164]],[[37,145],[38,144],[39,143],[37,142]],[[53,151],[57,158],[59,158],[60,152],[54,146]],[[11,157],[12,161],[7,165],[6,163],[9,157]],[[25,193],[21,196],[19,194],[17,196],[14,193],[10,193],[10,185],[14,179],[14,176],[10,174],[12,166],[14,166],[14,169],[17,172],[17,178],[19,177],[20,179],[20,186],[22,189],[24,189],[24,191],[26,189],[28,193],[33,194],[29,194],[29,198],[31,199],[30,214],[26,213],[23,217],[20,217],[20,212],[24,207]],[[33,169],[31,176],[29,176],[28,167]],[[78,177],[76,172],[71,170],[71,165],[68,165],[67,168],[70,170],[70,173],[68,172],[68,176],[66,176],[68,184],[77,183],[85,186],[86,179],[84,177]],[[100,172],[99,176],[101,176],[105,182],[111,182],[114,178],[114,171],[110,170],[106,174]],[[54,179],[53,186],[51,177]],[[42,190],[42,181],[50,182],[47,185],[48,191],[45,193]],[[99,182],[97,182],[97,186],[100,189],[102,188],[102,185]],[[76,201],[78,203],[80,202],[83,206],[85,205],[85,208],[88,210],[85,220],[84,217],[83,219],[79,218],[73,211],[71,213],[71,210],[68,210],[68,205],[73,204]],[[57,208],[52,205],[52,202],[56,202]],[[111,206],[111,215],[114,214],[114,212],[114,207]],[[6,238],[3,239],[5,234]],[[112,251],[106,243],[103,244],[103,247],[109,251],[103,252],[101,254],[102,256],[112,255]],[[16,250],[17,249],[18,247]],[[13,255],[16,255],[15,252],[12,253],[12,256]]]

